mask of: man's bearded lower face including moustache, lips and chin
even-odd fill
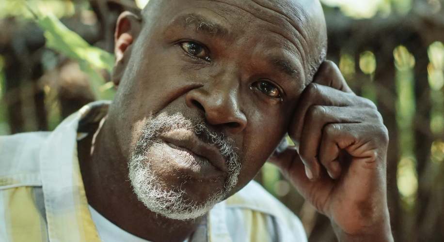
[[[141,133],[128,163],[129,179],[152,212],[176,220],[195,219],[236,186],[238,154],[205,124],[181,114],[159,115],[147,121]]]

